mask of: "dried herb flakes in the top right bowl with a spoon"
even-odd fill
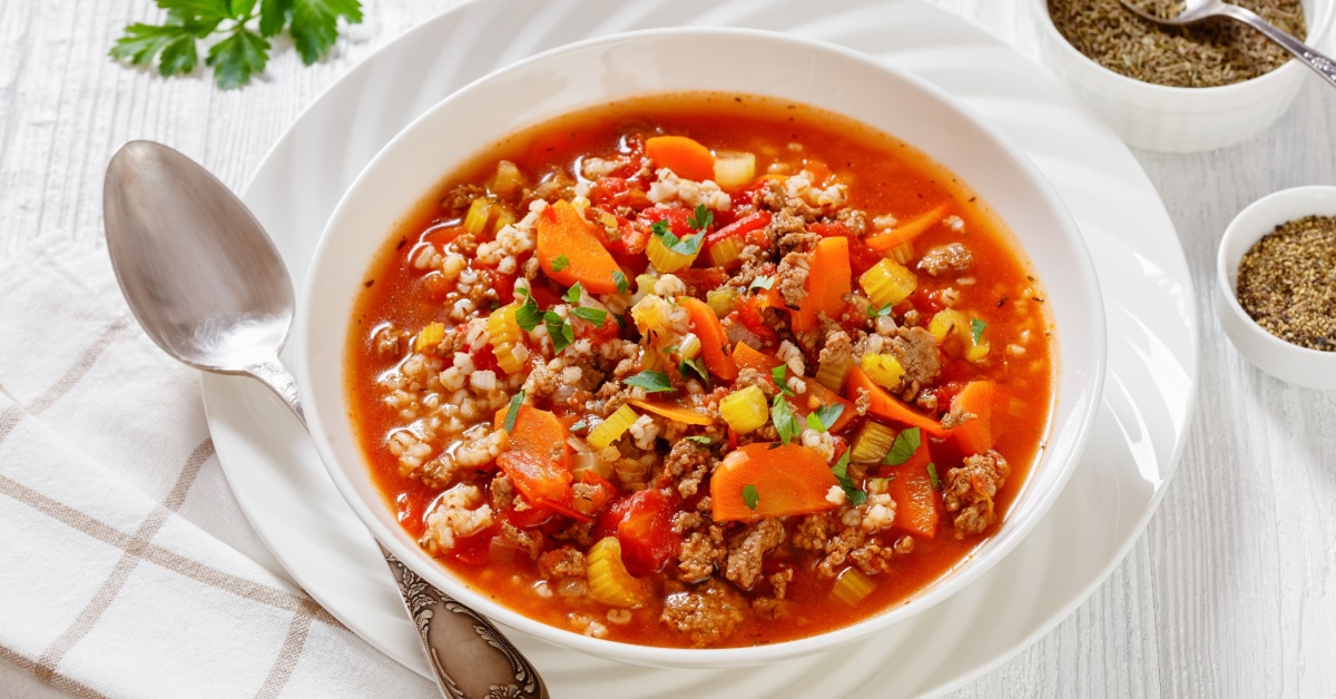
[[[1303,39],[1307,33],[1299,0],[1233,0]],[[1138,0],[1138,7],[1173,16],[1181,1]],[[1228,17],[1189,27],[1160,27],[1118,0],[1049,0],[1058,33],[1077,51],[1113,72],[1170,87],[1216,87],[1241,83],[1273,71],[1289,53],[1261,32]]]

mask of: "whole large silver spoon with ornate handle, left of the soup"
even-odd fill
[[[116,281],[148,337],[196,369],[258,378],[305,426],[297,382],[278,361],[293,282],[246,204],[190,158],[135,140],[107,166],[103,218]],[[490,621],[381,551],[444,695],[548,695]]]

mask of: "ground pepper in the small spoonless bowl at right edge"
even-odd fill
[[[1238,305],[1268,333],[1336,352],[1336,217],[1276,226],[1238,262]]]

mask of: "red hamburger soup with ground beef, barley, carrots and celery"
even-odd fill
[[[386,507],[480,592],[619,642],[774,643],[906,603],[1003,525],[1051,321],[923,154],[676,95],[448,178],[366,273],[345,381]]]

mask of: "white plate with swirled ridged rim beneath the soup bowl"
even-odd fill
[[[1122,560],[1178,461],[1196,392],[1196,298],[1173,225],[1122,142],[1037,64],[915,0],[470,3],[335,83],[279,140],[243,198],[301,286],[343,190],[437,100],[537,51],[681,24],[787,31],[863,51],[953,92],[1015,140],[1053,180],[1096,259],[1109,322],[1104,404],[1089,456],[1007,560],[872,640],[779,666],[683,671],[513,638],[556,696],[891,696],[954,687],[1047,632]],[[253,381],[206,376],[203,386],[223,469],[261,537],[330,613],[425,674],[383,561],[297,421]]]

